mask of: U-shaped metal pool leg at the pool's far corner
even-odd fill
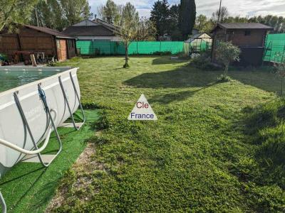
[[[83,126],[83,124],[85,123],[86,116],[85,116],[85,113],[84,113],[84,110],[83,110],[83,107],[82,107],[82,104],[81,104],[81,100],[79,98],[79,95],[78,95],[78,92],[77,92],[77,89],[76,89],[76,84],[74,83],[74,80],[73,80],[73,77],[72,77],[72,73],[70,72],[69,75],[71,77],[71,82],[72,82],[72,85],[73,85],[73,89],[74,89],[74,92],[76,93],[76,99],[78,100],[79,107],[81,109],[81,114],[83,116],[83,122],[80,125],[76,125],[76,121],[75,121],[73,113],[71,111],[71,107],[70,107],[70,105],[68,103],[68,98],[66,96],[66,91],[64,90],[64,87],[63,87],[61,76],[58,77],[58,81],[59,81],[59,84],[61,85],[61,91],[63,92],[64,101],[65,101],[65,103],[66,103],[66,105],[68,107],[69,114],[71,115],[71,120],[72,120],[73,127],[74,127],[74,129],[79,130],[79,129],[81,129],[81,126]]]

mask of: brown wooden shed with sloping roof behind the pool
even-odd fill
[[[17,52],[44,53],[45,57],[63,61],[76,56],[76,38],[50,28],[23,25],[17,33],[0,32],[0,53],[14,59]],[[21,55],[22,60],[29,55]]]

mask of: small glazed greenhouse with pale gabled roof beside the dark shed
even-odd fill
[[[190,53],[200,53],[212,48],[212,37],[207,33],[198,33],[185,40],[190,43]]]

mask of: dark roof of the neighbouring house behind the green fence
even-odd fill
[[[114,36],[115,33],[105,26],[70,26],[63,33],[73,36]]]

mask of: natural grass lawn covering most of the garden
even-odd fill
[[[61,65],[80,67],[83,103],[100,108],[105,129],[90,139],[92,163],[63,178],[53,211],[285,211],[284,171],[271,177],[245,133],[245,111],[276,98],[270,72],[231,71],[233,81],[219,83],[221,72],[168,57],[130,58],[127,70],[115,57]],[[127,120],[140,94],[158,121]]]

